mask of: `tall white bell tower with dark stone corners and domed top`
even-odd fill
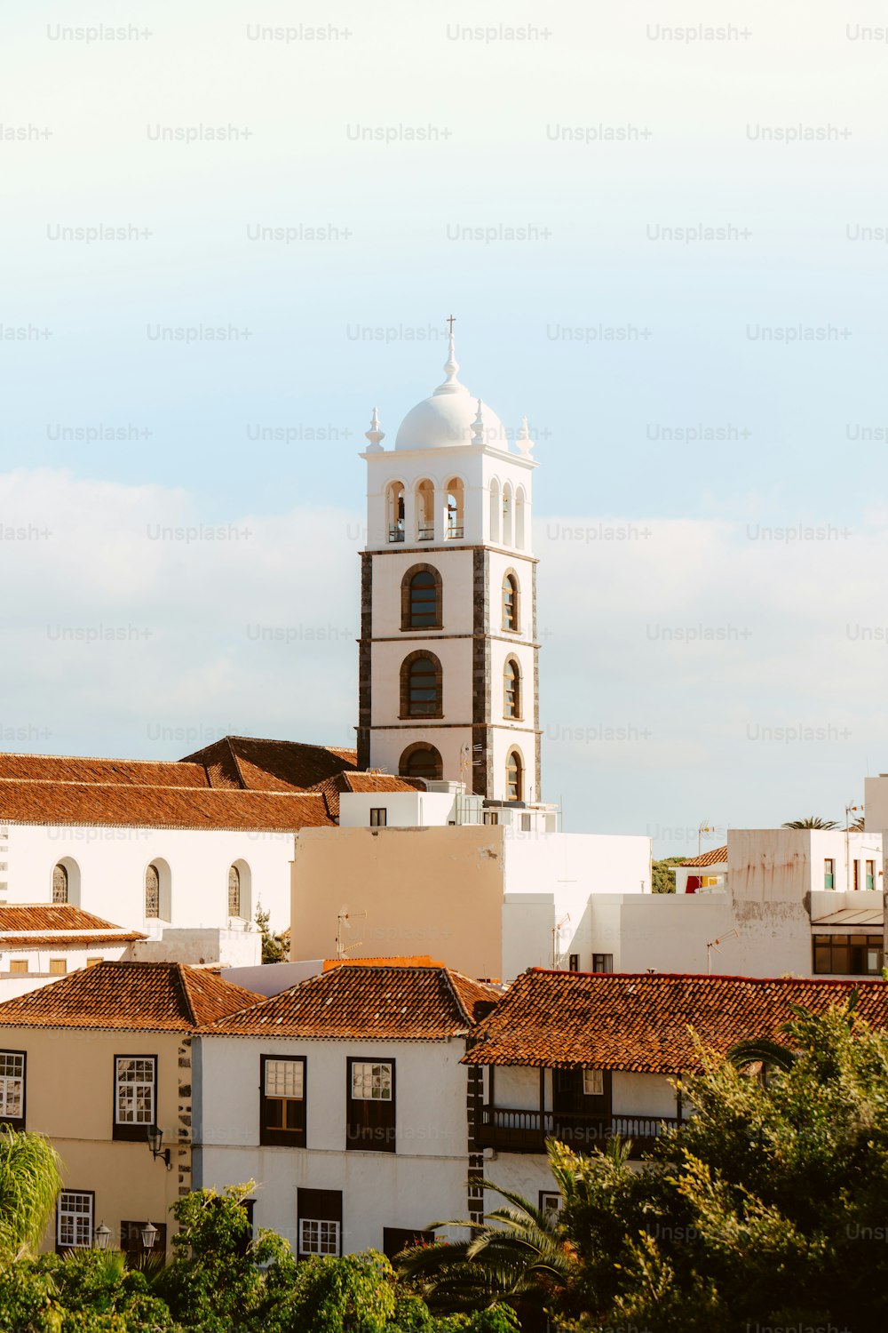
[[[358,766],[541,800],[537,559],[527,420],[510,443],[459,383],[366,432]]]

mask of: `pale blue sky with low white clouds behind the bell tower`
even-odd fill
[[[358,457],[527,415],[543,796],[655,854],[888,770],[884,9],[125,7],[0,43],[0,745],[350,744]]]

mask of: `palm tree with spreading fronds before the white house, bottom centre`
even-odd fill
[[[495,1190],[507,1206],[486,1213],[483,1222],[433,1222],[466,1228],[471,1237],[402,1250],[395,1258],[399,1273],[418,1280],[423,1300],[438,1310],[477,1310],[502,1301],[539,1313],[564,1292],[576,1264],[558,1213],[486,1181],[473,1185]]]

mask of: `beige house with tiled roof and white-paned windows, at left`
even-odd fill
[[[45,1250],[91,1246],[101,1224],[137,1249],[150,1221],[169,1254],[192,1188],[192,1033],[261,998],[176,962],[100,962],[0,1005],[0,1124],[64,1164]]]

